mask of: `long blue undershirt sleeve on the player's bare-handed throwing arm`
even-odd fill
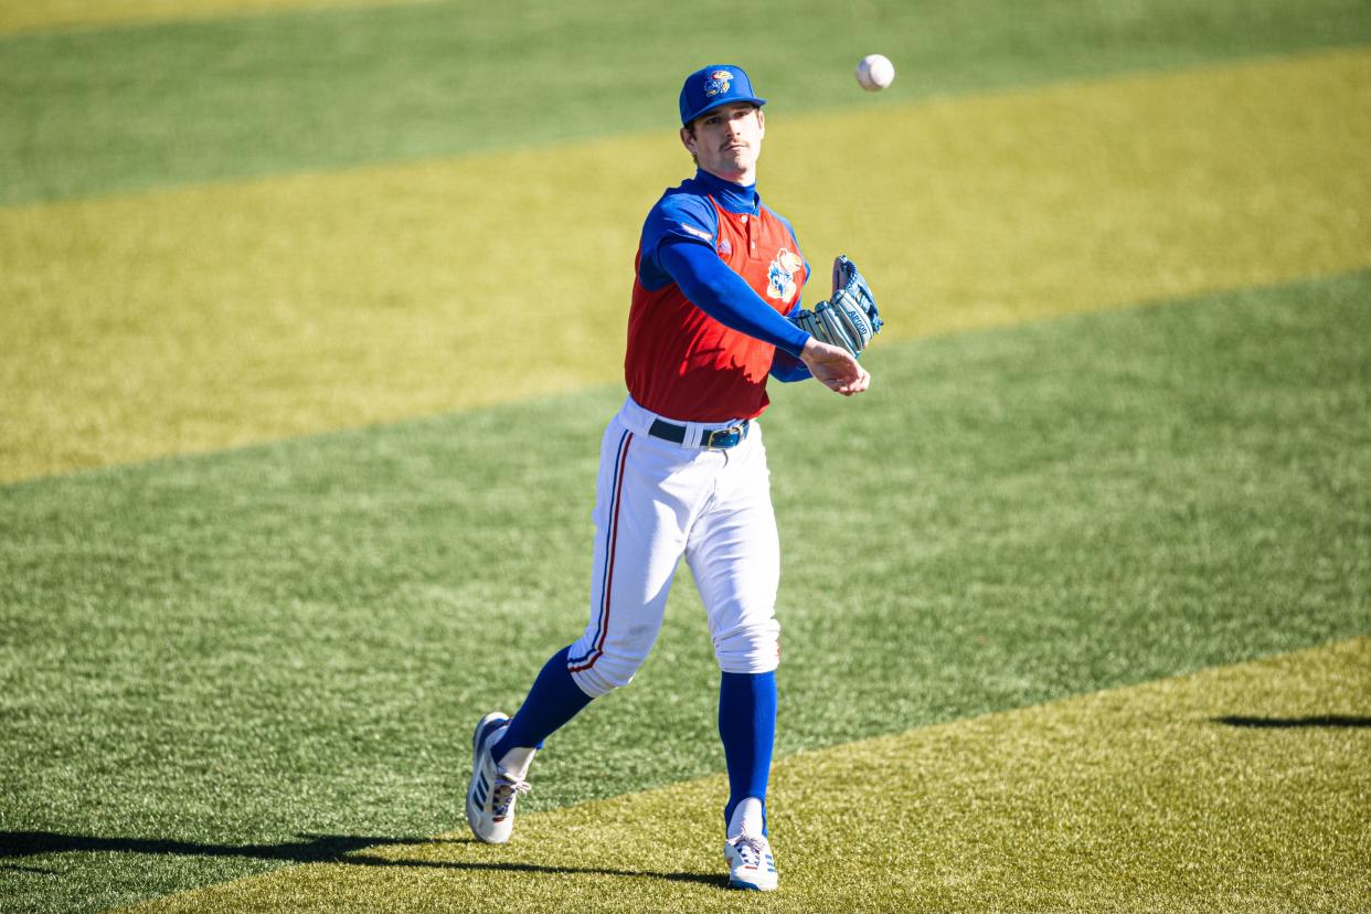
[[[691,304],[724,326],[798,356],[809,334],[776,314],[743,277],[718,259],[712,245],[675,240],[657,258]]]

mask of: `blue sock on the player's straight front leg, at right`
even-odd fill
[[[766,781],[772,744],[776,740],[776,673],[724,673],[718,685],[718,736],[728,765],[728,806],[724,828],[733,810],[749,796],[762,803],[762,835],[766,835]]]

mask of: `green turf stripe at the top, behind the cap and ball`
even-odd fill
[[[11,36],[0,204],[669,127],[718,59],[797,112],[1368,40],[1361,0],[452,1]],[[851,67],[876,49],[899,77],[872,97]]]

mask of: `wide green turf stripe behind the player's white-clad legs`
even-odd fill
[[[1352,274],[777,391],[779,751],[1371,630],[1368,300]],[[0,488],[0,896],[89,910],[455,828],[470,722],[584,622],[617,397]],[[717,770],[714,682],[680,586],[529,808]]]

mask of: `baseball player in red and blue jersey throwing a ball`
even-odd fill
[[[705,67],[681,88],[680,140],[698,170],[643,223],[624,360],[628,399],[600,444],[590,622],[547,662],[513,719],[494,711],[476,728],[466,815],[483,841],[509,840],[543,740],[632,681],[684,556],[723,671],[729,885],[776,888],[766,782],[780,547],[757,418],[768,374],[813,377],[846,396],[865,391],[871,377],[856,356],[880,318],[846,258],[835,263],[832,299],[814,311],[799,307],[809,264],[790,223],[755,188],[764,104],[735,66]]]

